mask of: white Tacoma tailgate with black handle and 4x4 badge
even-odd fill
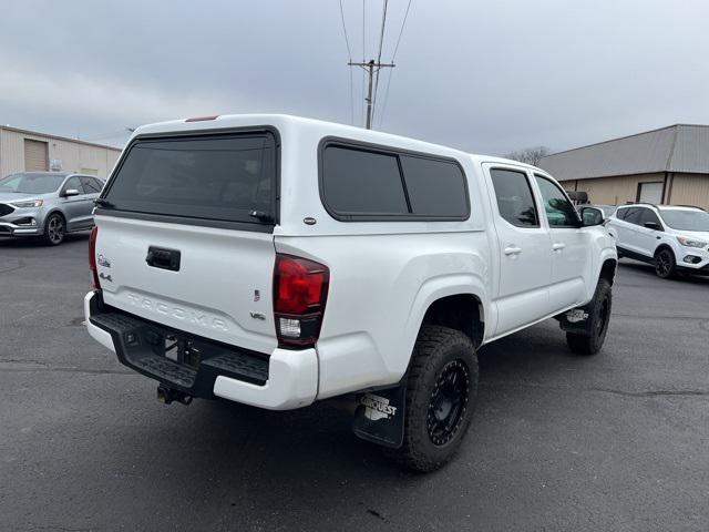
[[[106,215],[95,224],[107,305],[254,351],[277,347],[271,233]]]

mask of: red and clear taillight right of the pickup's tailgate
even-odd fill
[[[281,346],[312,346],[318,340],[329,280],[330,270],[322,264],[276,255],[274,314]]]

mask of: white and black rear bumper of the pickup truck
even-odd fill
[[[316,398],[315,349],[276,348],[270,355],[263,355],[183,336],[181,331],[105,307],[95,291],[84,298],[84,315],[89,334],[115,352],[121,364],[191,396],[220,397],[270,410],[305,407]],[[201,362],[193,367],[161,356],[164,346],[161,335],[166,332],[194,341]]]

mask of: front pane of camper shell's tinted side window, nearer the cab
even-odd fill
[[[467,215],[467,191],[460,166],[448,161],[402,155],[401,167],[413,214]]]

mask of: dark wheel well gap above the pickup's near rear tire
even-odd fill
[[[423,317],[424,325],[440,325],[460,330],[475,347],[483,342],[485,323],[481,300],[472,294],[442,297],[431,304]]]

